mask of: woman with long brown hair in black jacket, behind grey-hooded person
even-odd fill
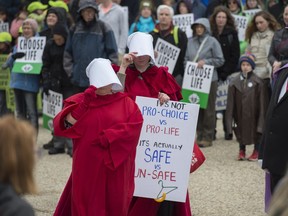
[[[237,65],[240,58],[239,39],[234,18],[227,7],[217,6],[210,17],[210,25],[212,36],[219,41],[225,59],[224,65],[217,68],[218,78],[219,81],[226,81],[229,75],[237,71]],[[231,140],[232,134],[226,132],[225,122],[224,110],[223,129],[225,140]]]

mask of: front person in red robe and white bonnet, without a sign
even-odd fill
[[[72,173],[54,216],[127,216],[142,114],[120,92],[109,60],[94,59],[86,74],[90,86],[66,99],[54,119],[55,135],[73,139]]]

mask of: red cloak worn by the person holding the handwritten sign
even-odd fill
[[[120,67],[113,65],[115,72]],[[126,69],[125,92],[135,100],[136,96],[158,98],[159,92],[166,93],[171,100],[182,99],[181,87],[175,78],[168,72],[167,67],[151,66],[145,72],[139,72],[135,67]],[[154,199],[133,197],[128,216],[156,216],[161,203]],[[173,216],[191,216],[189,195],[186,202],[174,203]]]

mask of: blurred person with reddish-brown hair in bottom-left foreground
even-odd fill
[[[36,130],[13,115],[0,118],[0,215],[34,216],[32,206],[21,198],[36,194],[33,175]]]

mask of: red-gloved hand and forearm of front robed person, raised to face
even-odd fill
[[[78,107],[76,107],[72,112],[71,115],[74,119],[78,120],[80,117],[87,111],[90,102],[96,98],[96,90],[95,86],[90,85],[84,91],[84,98],[81,103],[79,103]]]

